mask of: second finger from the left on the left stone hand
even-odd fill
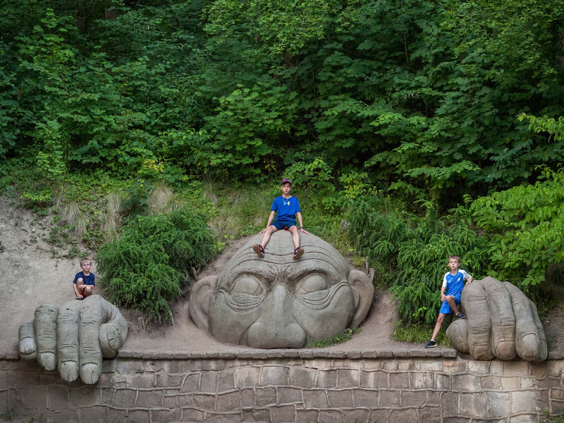
[[[46,370],[57,364],[57,314],[59,307],[43,304],[37,307],[33,329],[36,334],[37,362]]]

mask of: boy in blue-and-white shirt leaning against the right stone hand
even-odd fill
[[[465,270],[459,270],[459,266],[460,257],[458,255],[451,255],[448,258],[448,267],[451,268],[451,271],[444,274],[443,286],[440,288],[440,299],[443,301],[443,305],[440,307],[433,337],[431,337],[427,345],[425,345],[425,348],[434,348],[437,346],[435,338],[437,338],[439,334],[440,325],[443,324],[444,318],[451,313],[451,310],[455,312],[457,318],[466,319],[466,316],[459,311],[457,306],[460,304],[464,281],[466,281],[466,285],[470,285],[473,279]]]

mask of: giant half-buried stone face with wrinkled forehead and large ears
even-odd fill
[[[190,315],[216,340],[255,348],[299,348],[358,326],[372,305],[369,277],[351,270],[331,245],[301,234],[305,253],[292,258],[292,235],[272,235],[259,258],[253,237],[218,276],[192,289]]]

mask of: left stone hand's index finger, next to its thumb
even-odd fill
[[[101,299],[99,295],[92,295],[81,302],[78,360],[80,378],[85,384],[95,384],[102,369],[102,350],[98,340],[100,325],[102,325]]]

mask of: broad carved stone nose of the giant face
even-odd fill
[[[254,348],[301,348],[306,333],[294,318],[292,298],[283,285],[274,287],[263,313],[247,332],[249,346]]]

